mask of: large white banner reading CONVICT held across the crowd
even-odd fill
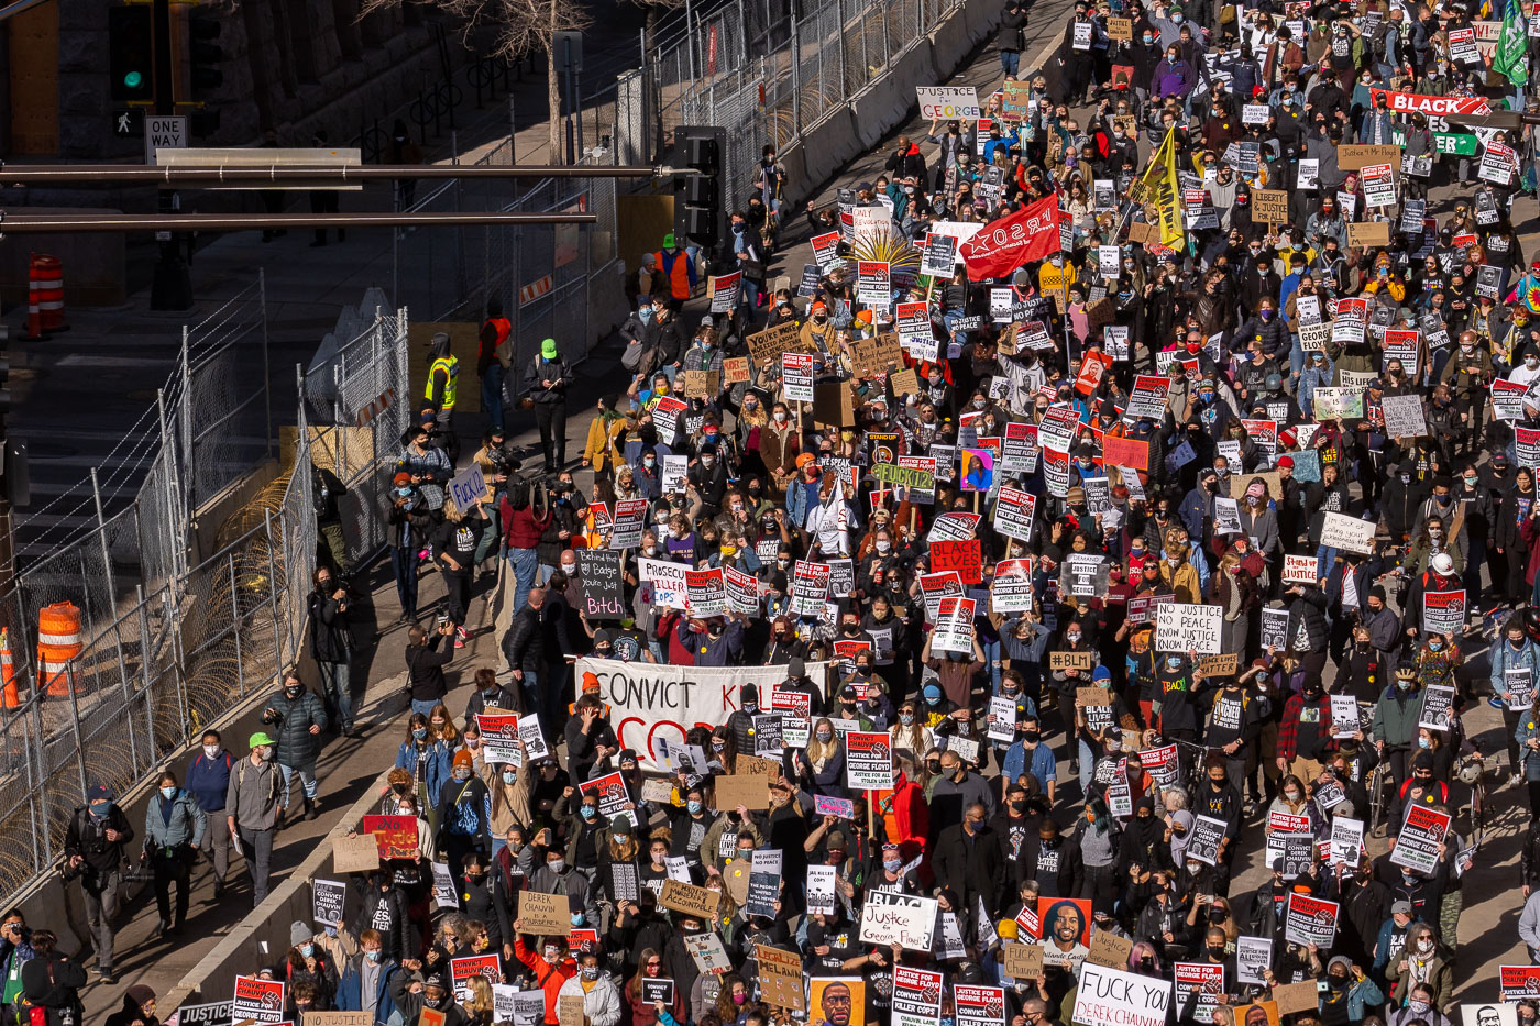
[[[599,678],[599,698],[610,704],[610,723],[622,747],[633,749],[656,766],[658,739],[684,743],[690,727],[718,727],[741,707],[744,684],[768,695],[785,682],[785,667],[690,667],[661,662],[627,662],[584,656],[574,667],[581,681]],[[822,681],[824,664],[808,664],[808,675]]]

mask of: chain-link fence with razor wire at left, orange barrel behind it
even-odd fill
[[[0,596],[0,639],[15,672],[0,689],[8,903],[57,864],[86,787],[132,789],[297,661],[325,510],[313,464],[346,485],[346,561],[363,562],[385,542],[383,498],[410,419],[410,404],[397,401],[407,394],[403,310],[376,316],[302,374],[293,459],[233,507],[213,555],[186,565],[189,525],[276,451],[257,337],[266,337],[260,280],[185,331],[183,370],[148,417],[159,451],[134,502],[102,516],[97,488],[88,499],[97,528],[29,565]],[[311,381],[326,382],[323,399],[306,397]]]

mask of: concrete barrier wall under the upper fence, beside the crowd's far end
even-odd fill
[[[850,102],[802,129],[782,146],[788,206],[801,206],[844,165],[869,153],[918,108],[915,86],[947,80],[999,22],[998,0],[964,0],[930,34],[906,49],[887,71],[850,97]]]

